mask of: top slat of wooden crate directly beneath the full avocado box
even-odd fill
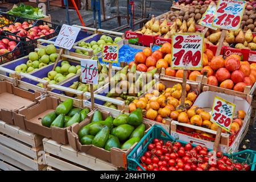
[[[77,163],[80,166],[86,168],[101,171],[117,171],[118,168],[113,166],[111,163],[105,162],[104,160],[97,159],[92,155],[85,154],[84,152],[77,152],[69,145],[59,144],[51,139],[43,139],[44,151],[60,158],[69,160],[73,163]]]

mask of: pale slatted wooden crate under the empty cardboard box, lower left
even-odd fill
[[[43,137],[0,121],[0,169],[40,171]]]

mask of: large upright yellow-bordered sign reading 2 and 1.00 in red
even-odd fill
[[[203,68],[203,34],[174,34],[172,40],[174,40],[172,41],[172,69],[201,70]]]

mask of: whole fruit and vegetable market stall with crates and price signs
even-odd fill
[[[125,32],[0,13],[0,169],[254,171],[254,5],[177,1]]]

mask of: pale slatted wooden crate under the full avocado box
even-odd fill
[[[56,169],[67,170],[106,170],[119,171],[122,168],[113,166],[113,164],[98,159],[92,155],[85,154],[73,150],[69,145],[59,144],[51,139],[43,139],[44,151],[46,152],[45,159],[47,170],[53,171]]]

